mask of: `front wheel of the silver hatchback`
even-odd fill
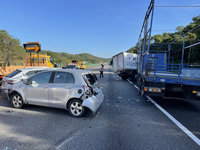
[[[24,106],[23,99],[19,93],[12,94],[11,102],[14,108],[20,109]]]

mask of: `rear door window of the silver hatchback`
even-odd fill
[[[75,78],[68,72],[56,72],[53,83],[75,83]]]

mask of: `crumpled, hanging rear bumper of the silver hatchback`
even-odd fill
[[[82,106],[89,108],[93,113],[95,113],[103,102],[103,93],[98,93],[85,100],[83,100]]]

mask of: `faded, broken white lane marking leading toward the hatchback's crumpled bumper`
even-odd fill
[[[96,119],[100,114],[100,111],[97,112],[96,116],[94,117],[94,119]],[[92,119],[92,120],[94,120]],[[91,124],[91,122],[89,122],[88,124],[86,124],[85,126],[88,126],[89,124]],[[79,131],[75,131],[75,133],[73,133],[69,138],[66,138],[62,143],[60,143],[57,147],[56,150],[60,150],[66,143],[70,142],[73,138],[75,138],[76,136],[78,136],[79,134],[81,134],[83,131],[85,130],[79,130]]]

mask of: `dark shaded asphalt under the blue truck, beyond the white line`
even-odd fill
[[[162,99],[156,97],[154,97],[154,100],[200,139],[199,101],[190,99]]]

